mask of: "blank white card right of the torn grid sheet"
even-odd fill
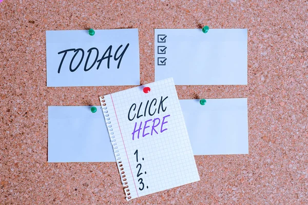
[[[248,154],[247,98],[180,102],[195,155]]]

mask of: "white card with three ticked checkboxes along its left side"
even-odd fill
[[[247,85],[247,29],[155,29],[155,80]]]

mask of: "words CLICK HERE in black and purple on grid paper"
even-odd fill
[[[147,103],[145,104],[145,106],[142,106],[143,102],[141,102],[140,105],[138,106],[138,109],[137,109],[136,104],[132,104],[129,108],[129,111],[128,111],[128,115],[127,115],[128,120],[132,121],[135,118],[138,119],[142,116],[146,117],[147,115],[152,116],[156,112],[158,114],[160,112],[165,112],[167,110],[167,107],[164,107],[163,103],[167,98],[168,98],[168,96],[165,97],[165,98],[163,98],[163,96],[161,96],[159,103],[158,103],[158,100],[156,98],[154,98],[152,100],[147,100]],[[168,130],[167,128],[164,129],[163,126],[168,123],[166,118],[169,117],[169,116],[170,115],[165,115],[162,118],[156,117],[156,118],[153,118],[153,119],[148,119],[148,120],[144,121],[144,124],[141,121],[139,126],[137,126],[138,123],[135,122],[133,132],[131,133],[132,134],[132,140],[134,140],[136,138],[139,139],[140,136],[145,137],[146,135],[149,135],[149,134],[152,136],[155,133],[159,134],[159,133],[163,133],[164,131]],[[140,134],[141,130],[142,130],[142,134]],[[135,134],[137,136],[135,136]]]

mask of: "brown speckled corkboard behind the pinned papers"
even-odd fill
[[[0,4],[1,204],[307,204],[304,1]],[[141,84],[154,28],[248,28],[247,86],[177,86],[180,99],[248,97],[249,155],[196,156],[201,180],[126,202],[114,163],[47,163],[47,106],[99,105],[120,87],[46,87],[46,30],[138,28]],[[205,48],[206,49],[206,48]]]

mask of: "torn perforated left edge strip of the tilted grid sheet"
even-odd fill
[[[123,168],[121,156],[119,154],[117,141],[115,140],[115,136],[114,136],[114,132],[113,132],[113,129],[112,129],[112,124],[111,124],[111,121],[110,121],[110,116],[108,114],[106,100],[104,99],[104,96],[100,97],[100,101],[101,101],[102,111],[103,111],[103,114],[104,114],[104,117],[105,117],[107,129],[108,129],[111,145],[112,145],[112,148],[113,148],[113,153],[114,153],[114,156],[115,156],[115,160],[117,161],[117,165],[118,165],[119,173],[120,173],[120,176],[121,176],[123,189],[124,189],[124,192],[125,192],[125,195],[126,195],[126,200],[129,200],[131,198],[131,196],[130,196],[129,188],[128,188],[127,181],[126,181],[125,170]]]

